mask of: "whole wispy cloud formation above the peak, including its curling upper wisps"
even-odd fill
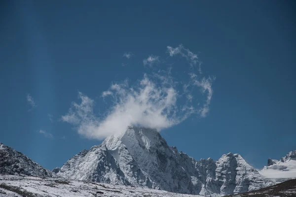
[[[191,114],[206,117],[213,96],[212,83],[215,77],[201,76],[194,72],[195,55],[182,45],[168,48],[170,57],[187,55],[188,72],[178,80],[173,76],[172,67],[144,74],[137,83],[130,85],[127,80],[111,83],[102,93],[103,98],[111,99],[111,106],[105,115],[97,117],[93,111],[94,100],[78,92],[79,103],[72,102],[62,121],[74,125],[78,133],[102,139],[111,134],[125,131],[130,125],[162,130],[177,125]],[[189,54],[189,55],[188,55]],[[182,55],[182,54],[181,54]],[[182,55],[183,56],[183,55]],[[191,61],[192,59],[192,61]],[[144,65],[159,61],[158,56],[149,56]],[[193,65],[193,66],[192,66]],[[180,73],[177,74],[179,76]],[[182,81],[183,80],[183,81]],[[180,85],[183,85],[180,88]]]

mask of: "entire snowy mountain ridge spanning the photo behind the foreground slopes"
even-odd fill
[[[168,146],[153,129],[129,127],[102,144],[82,150],[61,168],[49,171],[0,143],[0,174],[65,178],[76,181],[219,197],[258,190],[296,178],[296,151],[281,160],[268,159],[261,170],[239,154],[195,160]]]

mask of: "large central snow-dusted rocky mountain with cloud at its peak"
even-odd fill
[[[168,146],[156,130],[141,127],[129,127],[101,145],[81,151],[57,174],[203,196],[243,193],[265,184],[259,172],[238,154],[225,154],[218,161],[197,161]]]

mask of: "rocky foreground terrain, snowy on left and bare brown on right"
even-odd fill
[[[0,175],[0,197],[202,197],[61,178]],[[296,197],[296,179],[227,197]]]

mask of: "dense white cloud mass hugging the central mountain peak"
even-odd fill
[[[176,114],[176,89],[167,84],[158,86],[147,75],[135,88],[129,88],[123,82],[112,84],[110,91],[116,102],[102,120],[93,113],[94,101],[81,93],[81,103],[74,102],[62,120],[77,125],[78,132],[86,137],[101,139],[124,131],[130,125],[161,130],[180,123],[187,115],[184,112],[180,117]]]

